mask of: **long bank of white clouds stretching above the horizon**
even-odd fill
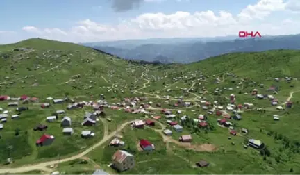
[[[298,1],[298,0],[297,0]],[[238,15],[230,12],[201,11],[174,12],[172,14],[145,13],[117,25],[99,24],[90,19],[63,30],[60,28],[36,28],[26,26],[24,31],[52,39],[69,42],[92,42],[99,40],[123,40],[129,38],[210,37],[238,35],[238,31],[259,31],[262,35],[280,35],[299,32],[300,23],[292,18],[283,22],[262,22],[272,17],[272,12],[291,10],[296,1],[260,0],[242,9]],[[294,6],[297,7],[297,6]],[[294,8],[297,10],[297,8]]]

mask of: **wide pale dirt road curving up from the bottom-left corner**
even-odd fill
[[[130,122],[126,122],[126,123],[122,124],[121,126],[119,126],[117,128],[117,130],[115,132],[121,131],[129,123]],[[107,135],[106,134],[106,129],[105,129],[105,133],[104,133],[104,136],[103,136],[102,140],[100,140],[97,144],[92,145],[92,147],[90,147],[89,149],[86,149],[82,153],[78,153],[76,156],[72,156],[72,157],[64,158],[64,159],[60,159],[60,160],[52,160],[52,161],[44,162],[44,163],[38,163],[38,164],[35,164],[35,165],[24,165],[22,167],[16,167],[16,168],[3,168],[3,169],[0,169],[0,174],[6,174],[6,173],[13,174],[13,173],[31,172],[31,171],[34,171],[34,170],[37,170],[37,169],[42,170],[42,171],[47,170],[47,172],[49,172],[49,169],[46,168],[47,166],[55,165],[55,164],[58,164],[58,163],[64,163],[64,162],[68,162],[68,161],[71,161],[71,160],[76,160],[78,158],[82,158],[86,154],[90,153],[90,151],[92,151],[96,147],[101,146],[102,144],[107,142],[110,138],[113,138],[115,136],[115,132],[112,132],[109,135]]]

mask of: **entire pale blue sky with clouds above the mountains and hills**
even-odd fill
[[[300,0],[1,0],[0,44],[300,33]]]

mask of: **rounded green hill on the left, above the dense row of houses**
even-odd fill
[[[12,51],[18,48],[28,49]],[[15,95],[100,94],[107,89],[99,88],[113,83],[129,86],[142,72],[126,60],[72,43],[31,39],[0,46],[0,51],[1,92]]]

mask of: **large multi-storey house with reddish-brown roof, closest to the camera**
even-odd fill
[[[133,169],[135,166],[134,156],[124,150],[118,150],[113,155],[113,167],[119,172]]]

